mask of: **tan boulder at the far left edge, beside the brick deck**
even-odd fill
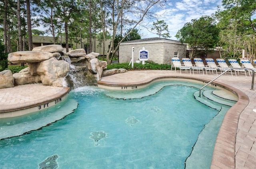
[[[10,70],[0,72],[0,88],[14,87],[14,78]]]

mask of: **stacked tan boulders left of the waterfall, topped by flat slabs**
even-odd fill
[[[67,87],[70,65],[66,61],[58,60],[61,45],[46,45],[35,47],[32,51],[18,51],[9,53],[8,61],[13,64],[28,63],[28,68],[14,73],[15,85],[25,85],[42,82],[43,85]]]

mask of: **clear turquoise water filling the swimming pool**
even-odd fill
[[[70,103],[78,102],[76,110],[61,120],[1,140],[0,166],[44,168],[38,164],[55,155],[58,166],[49,168],[210,168],[216,136],[230,107],[216,103],[222,106],[220,111],[195,100],[193,94],[200,86],[166,81],[136,91],[77,88],[61,107],[42,111],[40,116],[1,120],[1,129],[25,127],[26,120],[33,125],[42,117],[54,122],[49,114],[69,111]]]

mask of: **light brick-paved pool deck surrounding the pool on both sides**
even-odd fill
[[[189,73],[180,71],[128,71],[102,77],[98,85],[106,87],[143,86],[156,79],[187,78],[209,82],[216,74]],[[255,169],[256,168],[256,85],[252,87],[252,77],[240,73],[237,77],[230,73],[221,76],[213,84],[228,88],[238,95],[238,102],[228,110],[220,128],[212,169]],[[120,88],[121,89],[121,88]],[[69,88],[43,86],[41,84],[20,85],[0,89],[0,112],[6,108],[14,110],[24,106],[39,105],[55,100],[66,94]],[[26,96],[25,98],[23,96]],[[41,100],[41,101],[40,101]]]

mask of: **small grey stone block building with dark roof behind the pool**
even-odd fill
[[[160,37],[122,42],[119,46],[119,63],[130,63],[134,47],[134,62],[139,61],[142,47],[148,50],[148,61],[171,64],[172,57],[186,57],[187,45],[180,41]]]

